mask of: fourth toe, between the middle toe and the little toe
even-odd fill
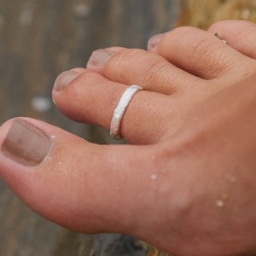
[[[216,79],[230,73],[240,75],[255,67],[250,59],[214,34],[194,27],[183,26],[166,32],[156,40],[154,47],[152,40],[154,42],[154,38],[149,39],[149,51],[202,79]]]

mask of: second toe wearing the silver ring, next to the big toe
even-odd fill
[[[129,86],[113,82],[88,69],[79,71],[79,74],[73,70],[61,73],[56,79],[53,89],[55,105],[71,119],[109,130],[115,108]],[[67,84],[63,85],[63,82]],[[157,142],[166,131],[167,124],[163,120],[166,115],[173,114],[167,111],[170,107],[168,100],[166,95],[138,91],[119,119],[120,136],[128,143]],[[175,120],[174,114],[172,120]]]

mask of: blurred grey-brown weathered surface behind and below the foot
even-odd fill
[[[94,49],[145,48],[151,35],[172,26],[178,2],[0,0],[1,123],[29,116],[92,142],[108,143],[105,131],[74,123],[55,109],[50,102],[55,78],[63,70],[84,67]],[[0,255],[4,256],[146,254],[141,244],[127,236],[82,235],[49,223],[24,206],[2,180],[0,227]]]

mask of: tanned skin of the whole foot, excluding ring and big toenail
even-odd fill
[[[140,84],[121,124],[129,145],[90,144],[22,118],[49,137],[49,153],[30,166],[2,146],[1,177],[68,229],[125,233],[174,255],[253,255],[255,42],[254,24],[227,20],[157,35],[147,51],[96,50],[86,68],[56,79],[55,105],[108,129],[127,85]],[[0,128],[3,145],[14,122]]]

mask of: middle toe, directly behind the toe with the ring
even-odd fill
[[[139,84],[144,90],[171,95],[200,80],[172,65],[160,55],[143,49],[98,49],[90,56],[87,68],[122,84]]]

